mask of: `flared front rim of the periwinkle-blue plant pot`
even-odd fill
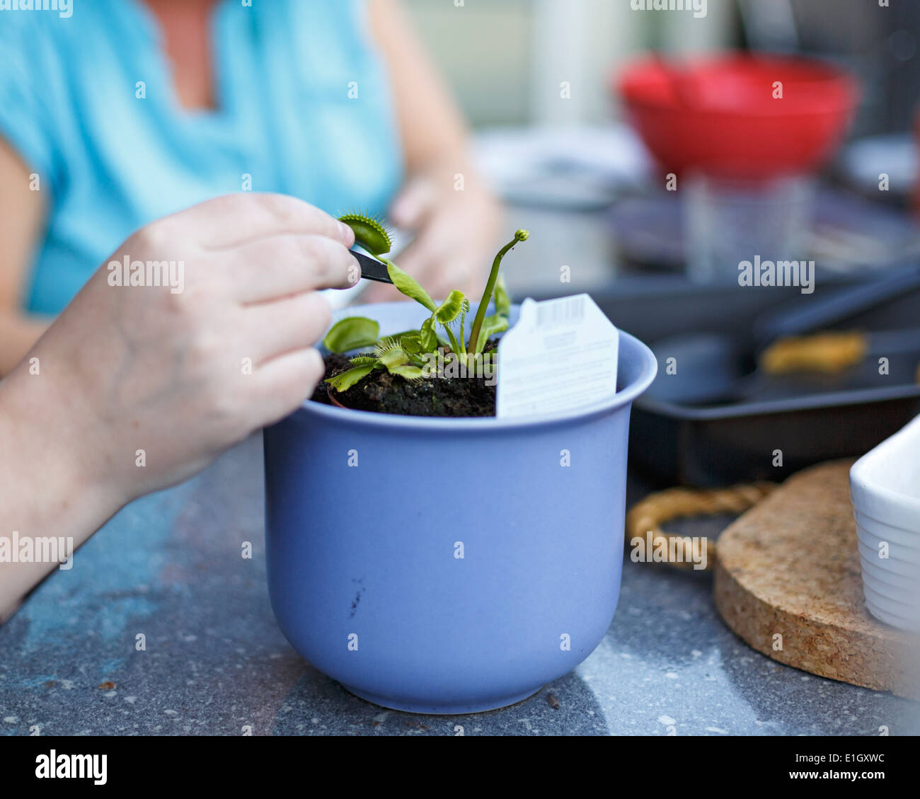
[[[404,305],[404,303],[381,303],[385,305]],[[350,308],[350,310],[355,310]],[[602,416],[610,411],[615,411],[631,403],[649,386],[658,373],[658,362],[650,348],[631,336],[625,330],[617,328],[620,336],[619,353],[624,345],[638,354],[642,361],[642,371],[637,379],[621,388],[610,399],[593,402],[582,408],[562,411],[557,413],[535,414],[530,416],[514,416],[509,419],[499,419],[496,416],[472,417],[447,417],[447,416],[408,416],[401,413],[378,413],[377,411],[357,411],[353,408],[336,408],[334,405],[325,405],[305,399],[300,408],[294,413],[305,412],[320,419],[333,422],[348,422],[359,426],[374,428],[409,428],[421,431],[444,433],[470,432],[470,431],[497,431],[497,430],[525,430],[531,427],[543,427],[552,424],[583,422],[596,416]]]

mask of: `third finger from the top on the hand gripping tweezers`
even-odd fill
[[[316,292],[249,306],[243,311],[243,337],[249,342],[253,365],[259,366],[282,353],[312,347],[328,330],[332,308]]]

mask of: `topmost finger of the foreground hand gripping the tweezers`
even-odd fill
[[[286,194],[226,194],[155,224],[165,231],[183,233],[185,238],[193,235],[204,249],[229,249],[285,234],[325,236],[346,247],[354,243],[349,226],[315,205]]]

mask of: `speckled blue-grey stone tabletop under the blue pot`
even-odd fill
[[[706,573],[627,562],[604,642],[500,711],[423,716],[351,696],[293,651],[269,606],[261,437],[125,508],[0,628],[7,735],[891,735],[920,703],[753,652]],[[684,529],[686,531],[686,529]],[[700,530],[697,532],[707,532]],[[710,531],[711,532],[711,531]],[[241,557],[251,541],[253,557]],[[143,634],[146,648],[135,642]],[[558,699],[551,707],[546,694]]]

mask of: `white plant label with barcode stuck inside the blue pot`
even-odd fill
[[[619,332],[589,295],[521,305],[499,343],[496,415],[569,411],[616,393]]]

